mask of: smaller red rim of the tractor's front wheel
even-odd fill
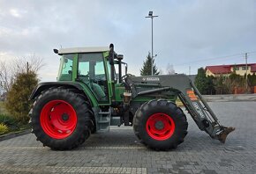
[[[147,119],[146,130],[154,140],[164,141],[174,133],[175,123],[168,114],[154,113]]]

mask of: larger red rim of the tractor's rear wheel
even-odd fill
[[[64,139],[75,130],[77,114],[72,105],[64,100],[52,100],[43,106],[40,123],[50,137]]]

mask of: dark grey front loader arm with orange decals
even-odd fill
[[[166,91],[176,93],[200,130],[206,131],[213,139],[224,143],[227,135],[235,130],[234,127],[223,127],[220,124],[215,113],[188,76],[133,76],[128,81],[133,98],[152,94],[161,97]]]

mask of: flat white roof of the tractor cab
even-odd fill
[[[58,54],[97,53],[105,51],[109,51],[109,47],[72,47],[60,48]]]

